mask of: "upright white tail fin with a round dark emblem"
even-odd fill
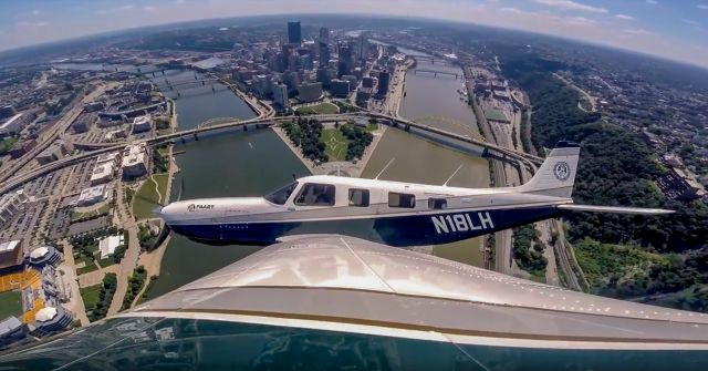
[[[577,174],[580,145],[561,141],[531,181],[518,187],[522,193],[570,198]]]

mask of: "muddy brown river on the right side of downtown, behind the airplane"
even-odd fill
[[[425,55],[415,50],[400,48],[408,55]],[[445,71],[457,73],[458,79],[448,75],[437,78],[416,70]],[[458,89],[464,84],[462,70],[441,61],[417,59],[415,69],[406,73],[405,97],[400,115],[405,118],[439,127],[462,135],[479,135],[477,121],[471,107],[460,100]],[[405,148],[405,152],[402,150]],[[419,136],[389,128],[378,143],[362,177],[374,177],[391,161],[394,163],[381,176],[382,179],[412,183],[442,184],[458,166],[460,171],[448,183],[451,186],[489,187],[489,163],[481,157],[481,151],[473,146],[452,150]],[[456,261],[481,267],[480,251],[482,238],[471,238],[458,243],[436,246],[434,254]]]

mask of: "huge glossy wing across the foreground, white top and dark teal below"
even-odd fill
[[[0,369],[705,370],[707,328],[701,313],[321,235],[0,355]]]

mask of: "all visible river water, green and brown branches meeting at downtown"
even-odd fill
[[[448,65],[447,71],[452,68]],[[158,75],[155,79],[163,89],[166,89],[165,79],[173,85],[195,80],[195,72],[191,71],[166,71],[165,74],[166,76]],[[476,133],[473,112],[459,100],[457,89],[460,85],[460,80],[415,74],[414,70],[409,70],[400,115],[406,118],[427,115],[425,123],[430,126],[465,135]],[[428,95],[431,89],[436,91],[435,100]],[[166,90],[166,94],[177,97],[174,91]],[[179,130],[196,127],[214,117],[253,117],[252,111],[239,96],[219,86],[212,92],[210,86],[197,85],[180,92],[175,102]],[[462,120],[467,120],[466,126],[461,126]],[[400,155],[400,148],[406,148],[404,156]],[[225,134],[201,135],[198,141],[177,145],[175,151],[185,153],[176,156],[180,173],[173,182],[173,200],[178,194],[181,194],[183,199],[262,196],[292,179],[293,174],[310,174],[305,163],[271,130],[235,130]],[[367,152],[366,161],[360,164],[363,168],[362,177],[376,176],[391,158],[396,157],[381,178],[442,184],[461,165],[449,185],[489,186],[487,159],[481,158],[480,152],[476,152],[473,147],[465,152],[452,150],[418,135],[389,128],[383,133],[375,148]],[[357,229],[348,233],[362,235],[366,231]],[[481,266],[481,241],[482,238],[472,238],[437,246],[428,251]],[[258,247],[249,246],[208,246],[176,235],[170,237],[168,244],[159,278],[153,284],[149,297],[168,292],[258,250]]]

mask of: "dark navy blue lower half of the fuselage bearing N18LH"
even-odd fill
[[[171,225],[170,228],[191,239],[215,244],[269,245],[289,235],[340,234],[391,246],[421,246],[468,239],[560,214],[553,206],[543,206],[365,219]]]

